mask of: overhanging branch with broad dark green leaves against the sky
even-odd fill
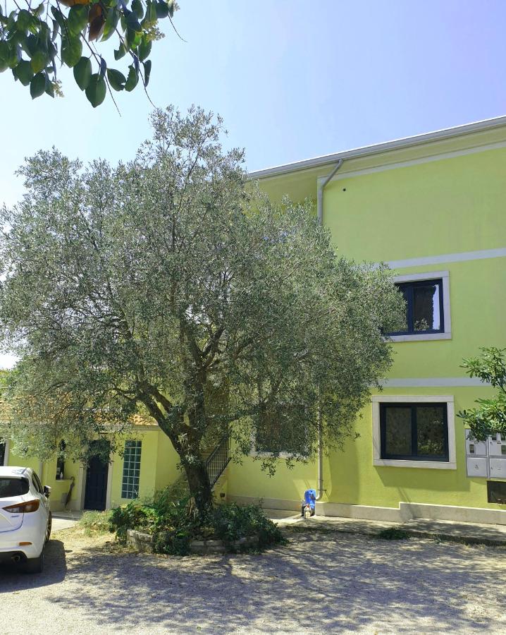
[[[152,43],[163,37],[158,21],[172,20],[175,8],[174,0],[42,0],[37,6],[6,0],[0,4],[0,72],[11,69],[32,99],[54,97],[63,94],[57,66],[65,64],[97,107],[108,87],[131,91],[139,81],[147,87]],[[114,60],[130,62],[126,71],[104,56],[102,43],[111,37],[118,46]]]

